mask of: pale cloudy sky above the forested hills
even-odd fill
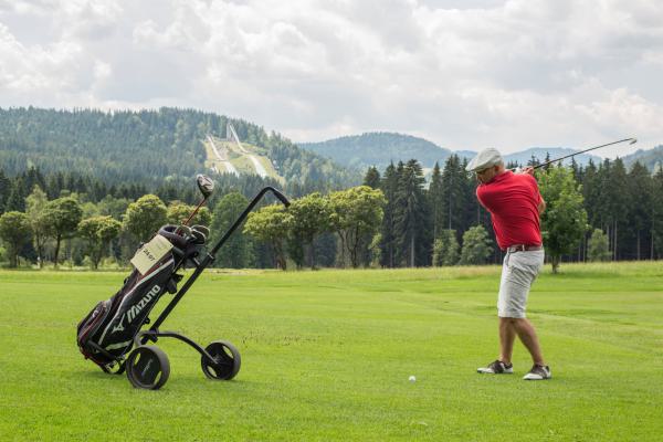
[[[661,23],[653,0],[0,0],[0,107],[194,107],[295,141],[651,148]]]

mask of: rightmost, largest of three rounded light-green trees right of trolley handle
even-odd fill
[[[329,194],[332,227],[338,233],[341,249],[347,252],[352,267],[360,263],[360,251],[367,249],[382,223],[382,207],[387,203],[379,189],[352,187]]]

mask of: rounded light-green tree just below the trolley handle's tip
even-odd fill
[[[267,243],[274,254],[275,267],[286,270],[284,241],[290,231],[292,214],[283,206],[266,206],[249,213],[244,223],[244,232],[257,241]]]

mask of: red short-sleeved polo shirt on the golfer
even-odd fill
[[[533,176],[507,170],[480,185],[476,198],[491,212],[499,249],[543,243],[538,214],[543,199]]]

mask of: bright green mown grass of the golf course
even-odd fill
[[[498,267],[206,272],[164,329],[231,340],[242,369],[210,381],[162,339],[160,391],[75,346],[126,273],[0,272],[0,440],[661,440],[662,263],[561,271],[529,301],[550,381],[520,380],[519,344],[515,376],[475,372],[497,354]]]

